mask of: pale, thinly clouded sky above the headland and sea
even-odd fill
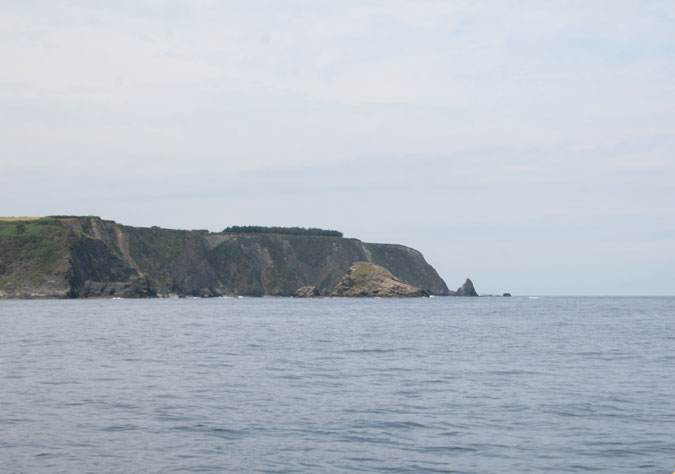
[[[675,294],[675,2],[3,1],[0,215],[337,229]]]

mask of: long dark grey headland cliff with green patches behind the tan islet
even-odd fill
[[[0,298],[328,294],[357,261],[449,294],[421,253],[357,239],[140,228],[98,217],[0,221]]]

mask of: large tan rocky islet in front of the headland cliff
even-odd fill
[[[349,267],[331,296],[414,298],[429,295],[422,288],[403,283],[384,267],[356,262]]]

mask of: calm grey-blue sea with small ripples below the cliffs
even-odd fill
[[[675,298],[0,301],[2,472],[675,470]]]

